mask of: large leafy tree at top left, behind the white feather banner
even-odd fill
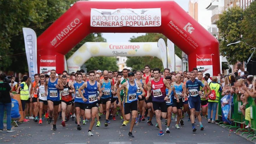
[[[22,27],[39,36],[76,0],[1,0],[0,70],[28,71]]]

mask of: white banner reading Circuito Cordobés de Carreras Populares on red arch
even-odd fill
[[[93,27],[148,27],[161,26],[161,8],[91,8],[90,26]]]

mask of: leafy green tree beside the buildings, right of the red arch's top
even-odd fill
[[[243,15],[244,12],[240,7],[233,7],[221,14],[217,21],[221,38],[220,52],[222,56],[227,57],[230,64],[235,64],[237,61],[246,61],[250,55],[250,47],[243,42],[227,46],[227,44],[238,40],[245,41],[241,26]]]

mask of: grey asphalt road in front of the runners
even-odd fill
[[[128,137],[129,124],[122,126],[121,120],[118,117],[116,121],[110,120],[108,127],[104,127],[104,116],[101,119],[101,127],[96,127],[96,122],[93,127],[94,136],[87,136],[89,123],[82,125],[82,130],[77,130],[77,125],[70,119],[66,123],[66,127],[62,127],[61,120],[57,121],[57,130],[52,130],[52,124],[48,125],[46,120],[43,124],[38,124],[30,120],[26,123],[19,124],[19,127],[13,127],[15,132],[8,133],[6,131],[0,133],[0,143],[47,143],[47,144],[252,144],[232,131],[222,128],[216,124],[207,123],[206,119],[202,118],[205,130],[192,132],[191,122],[188,122],[188,117],[184,118],[184,126],[180,129],[175,129],[175,121],[171,122],[170,134],[157,136],[159,129],[155,126],[148,126],[147,121],[143,121],[134,126],[134,138]],[[155,118],[152,120],[155,125]],[[162,120],[164,122],[164,120]],[[196,124],[198,121],[196,120]],[[200,129],[199,125],[196,126]],[[163,129],[166,126],[163,124]]]

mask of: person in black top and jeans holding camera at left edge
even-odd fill
[[[9,85],[10,79],[6,77],[6,74],[0,74],[0,132],[3,132],[3,115],[4,109],[6,109],[7,115],[7,132],[13,132],[11,129],[11,110],[12,101],[10,97],[11,87]]]

